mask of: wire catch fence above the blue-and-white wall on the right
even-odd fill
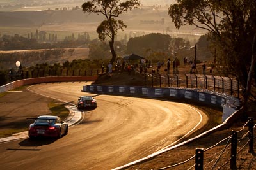
[[[202,74],[145,74],[145,82],[151,87],[180,87],[207,89],[239,98],[241,89],[236,78]]]

